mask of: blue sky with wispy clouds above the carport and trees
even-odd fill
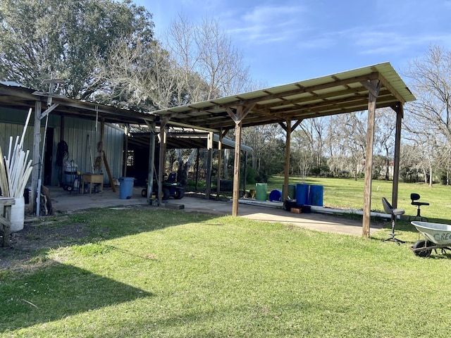
[[[266,87],[390,62],[398,73],[429,46],[451,49],[451,0],[135,0],[157,37],[183,14],[215,18]],[[406,79],[404,79],[406,81]]]

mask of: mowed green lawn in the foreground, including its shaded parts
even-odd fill
[[[451,256],[412,242],[152,207],[67,223],[89,234],[0,270],[0,337],[449,335]]]

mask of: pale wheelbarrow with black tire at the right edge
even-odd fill
[[[410,246],[416,256],[429,257],[432,250],[437,253],[437,249],[441,249],[442,252],[451,250],[451,225],[418,220],[411,223],[424,237],[424,239],[419,239],[413,246]]]

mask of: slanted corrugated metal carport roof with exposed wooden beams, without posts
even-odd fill
[[[376,108],[414,101],[415,96],[390,63],[379,63],[311,80],[284,84],[254,92],[212,99],[152,112],[168,118],[168,125],[197,127],[218,132],[235,127],[231,118],[237,106],[248,107],[242,127],[283,123],[325,115],[364,111],[368,108],[371,80],[381,89]]]

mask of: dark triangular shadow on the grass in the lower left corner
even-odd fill
[[[0,332],[152,296],[142,289],[55,261],[32,273],[8,271],[0,275],[0,286]]]

